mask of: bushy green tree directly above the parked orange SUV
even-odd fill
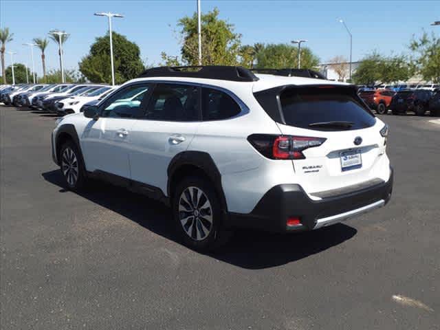
[[[356,84],[375,85],[405,81],[412,76],[412,65],[403,55],[383,56],[378,52],[366,55],[353,74]]]

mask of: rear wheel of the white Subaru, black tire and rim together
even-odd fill
[[[186,177],[177,184],[173,196],[177,232],[185,245],[199,252],[213,252],[228,241],[230,232],[223,229],[220,199],[208,179]]]

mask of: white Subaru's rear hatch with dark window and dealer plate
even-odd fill
[[[292,163],[307,193],[313,196],[377,179],[375,165],[384,154],[385,139],[380,133],[384,124],[365,107],[354,87],[287,87],[278,97],[279,129],[292,137],[298,150],[303,148]]]

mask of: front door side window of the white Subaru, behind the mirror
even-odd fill
[[[102,117],[139,118],[142,114],[142,100],[148,85],[132,85],[116,94],[102,110]]]

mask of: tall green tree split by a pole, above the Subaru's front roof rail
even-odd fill
[[[188,65],[199,63],[197,14],[179,19],[181,28],[181,58]],[[234,32],[234,25],[219,19],[219,10],[201,15],[201,63],[202,65],[237,65],[241,34]]]

